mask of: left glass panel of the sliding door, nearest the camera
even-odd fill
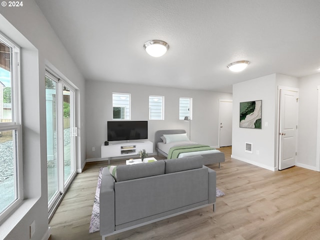
[[[57,159],[57,91],[56,82],[45,76],[46,104],[46,151],[48,204],[52,204],[59,193]]]

